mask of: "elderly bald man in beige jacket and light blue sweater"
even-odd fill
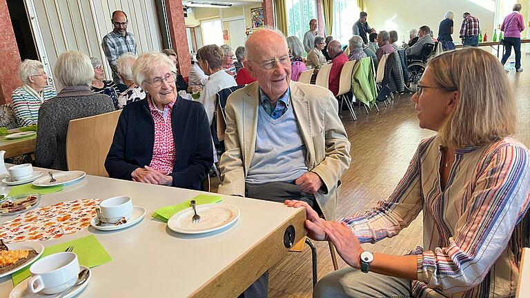
[[[244,67],[257,82],[228,98],[219,192],[302,200],[333,219],[340,177],[351,161],[337,100],[326,88],[291,81],[281,33],[258,30],[245,48]],[[267,284],[265,274],[241,297],[266,297]]]

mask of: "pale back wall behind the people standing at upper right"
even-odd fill
[[[396,30],[400,41],[403,35],[409,41],[409,30],[423,25],[429,26],[437,37],[440,21],[448,10],[455,12],[454,41],[460,41],[458,32],[464,12],[478,17],[482,34],[487,30],[489,40],[493,37],[494,0],[369,0],[364,3],[369,25],[377,31]]]

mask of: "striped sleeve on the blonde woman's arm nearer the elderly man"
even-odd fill
[[[431,147],[434,137],[424,139],[406,170],[404,177],[386,201],[361,215],[339,221],[350,226],[361,243],[375,243],[386,237],[397,235],[409,226],[423,208],[420,167],[422,156]]]

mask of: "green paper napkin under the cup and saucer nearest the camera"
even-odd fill
[[[112,257],[110,257],[108,252],[99,243],[94,235],[44,248],[41,258],[46,257],[47,255],[55,254],[57,252],[63,252],[66,250],[66,248],[68,248],[68,246],[74,246],[73,252],[76,253],[79,264],[88,268],[106,264],[112,261]],[[13,279],[13,286],[17,286],[17,284],[20,284],[21,281],[30,277],[30,266],[26,266],[26,268],[23,270],[14,272],[11,277]]]

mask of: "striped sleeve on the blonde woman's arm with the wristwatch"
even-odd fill
[[[515,143],[491,148],[475,169],[447,247],[418,255],[418,280],[446,293],[470,290],[482,282],[506,250],[530,199],[529,152]]]

